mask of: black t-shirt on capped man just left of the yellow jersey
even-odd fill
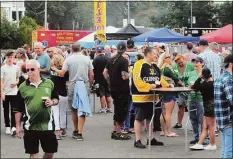
[[[111,58],[106,66],[110,78],[110,91],[119,93],[129,93],[129,79],[122,79],[122,72],[129,72],[128,61],[120,56],[113,64],[116,57]]]

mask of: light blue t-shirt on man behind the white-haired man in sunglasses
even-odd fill
[[[37,56],[36,60],[40,63],[40,68],[50,71],[50,57],[43,53],[41,56]],[[42,78],[48,79],[50,78],[50,74],[40,74]]]

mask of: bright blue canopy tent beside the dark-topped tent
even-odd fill
[[[154,29],[133,38],[135,42],[197,42],[200,37],[183,36],[167,28]]]

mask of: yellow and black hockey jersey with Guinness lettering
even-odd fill
[[[153,102],[153,92],[150,91],[150,85],[160,81],[162,87],[169,84],[164,78],[161,78],[160,69],[155,63],[149,64],[144,60],[139,60],[134,64],[133,82],[131,86],[133,103]],[[155,97],[156,100],[158,98]]]

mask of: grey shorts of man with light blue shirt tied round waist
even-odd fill
[[[86,88],[87,88],[87,92],[88,92],[88,96],[90,96],[90,87],[89,87],[89,83],[85,83],[86,84]],[[74,101],[74,87],[75,87],[75,83],[71,83],[68,86],[68,109],[70,110],[75,110],[73,108],[73,101]]]

